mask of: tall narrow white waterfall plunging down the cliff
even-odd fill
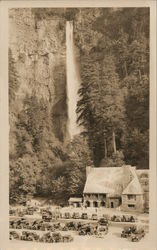
[[[70,139],[80,133],[76,123],[76,107],[78,101],[78,89],[80,77],[75,57],[73,39],[73,21],[66,22],[66,74],[67,74],[67,106],[68,106],[68,132]]]

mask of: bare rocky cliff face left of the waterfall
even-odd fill
[[[66,137],[66,45],[65,19],[51,17],[32,9],[9,11],[9,48],[15,61],[20,86],[14,108],[23,108],[26,95],[35,94],[47,103],[52,114],[52,130],[64,141]]]

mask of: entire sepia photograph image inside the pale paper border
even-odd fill
[[[150,7],[9,8],[8,120],[10,246],[153,249]]]

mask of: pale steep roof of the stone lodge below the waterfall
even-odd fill
[[[142,194],[142,188],[136,175],[136,169],[131,166],[127,167],[127,174],[131,175],[132,179],[125,186],[124,190],[123,183],[126,177],[124,168],[126,169],[126,167],[91,168],[87,176],[84,193],[110,194],[115,196],[121,196],[122,193]]]

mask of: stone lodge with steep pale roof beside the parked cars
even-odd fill
[[[149,206],[148,174],[147,169],[137,170],[128,165],[87,167],[83,204],[86,207],[119,207],[123,211],[144,212]]]

